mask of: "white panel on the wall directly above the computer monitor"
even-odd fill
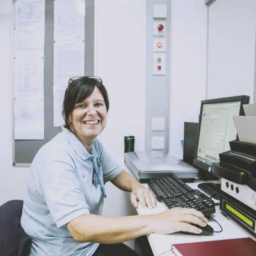
[[[209,8],[207,98],[249,95],[255,72],[255,0],[217,0]]]

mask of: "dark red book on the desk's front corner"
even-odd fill
[[[173,244],[177,256],[256,256],[256,241],[250,237]]]

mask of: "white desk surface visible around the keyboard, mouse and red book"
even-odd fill
[[[189,183],[193,189],[198,189],[197,185],[199,182]],[[145,184],[147,186],[147,184]],[[158,212],[163,212],[168,209],[166,205],[161,202],[157,202],[157,207],[154,209],[143,209],[141,205],[139,205],[137,212],[139,215],[144,214],[154,214]],[[148,242],[152,248],[152,252],[155,256],[163,255],[174,255],[171,252],[172,244],[178,243],[194,243],[201,241],[213,241],[213,240],[222,240],[222,239],[232,239],[239,237],[248,237],[249,235],[240,228],[234,221],[226,218],[221,214],[220,207],[216,206],[216,213],[211,215],[218,223],[220,223],[223,231],[220,233],[214,233],[212,236],[193,236],[193,235],[185,235],[185,234],[170,234],[170,235],[159,235],[159,234],[150,234],[148,235]],[[220,230],[220,226],[213,220],[209,220],[209,225],[214,230]],[[164,253],[166,252],[166,253]]]

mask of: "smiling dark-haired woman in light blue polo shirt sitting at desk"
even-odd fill
[[[138,255],[123,241],[157,233],[200,233],[207,219],[176,208],[148,216],[101,216],[104,183],[131,192],[131,203],[156,207],[156,198],[108,155],[97,136],[106,127],[108,93],[99,77],[70,79],[63,102],[65,126],[35,156],[21,224],[31,255]]]

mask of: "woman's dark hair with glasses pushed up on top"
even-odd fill
[[[62,115],[67,129],[69,129],[69,115],[73,111],[74,106],[77,102],[82,102],[89,97],[95,86],[97,86],[102,94],[108,112],[108,92],[99,77],[82,76],[76,79],[69,79],[62,106]]]

